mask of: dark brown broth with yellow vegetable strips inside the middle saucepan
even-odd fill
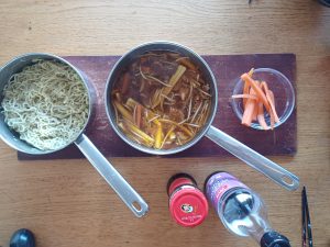
[[[111,92],[116,121],[132,141],[169,149],[191,141],[208,120],[210,85],[188,57],[150,52],[134,59]]]

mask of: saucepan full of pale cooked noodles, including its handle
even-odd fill
[[[0,137],[7,144],[44,155],[75,143],[136,216],[147,212],[144,200],[84,134],[92,94],[73,65],[50,54],[16,57],[0,70]]]

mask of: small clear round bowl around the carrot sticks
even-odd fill
[[[293,113],[295,108],[295,90],[292,82],[279,71],[271,68],[257,68],[254,69],[252,78],[254,80],[266,81],[270,90],[275,96],[275,109],[279,117],[279,122],[275,123],[274,127],[278,127],[283,124]],[[234,86],[232,94],[243,93],[244,82],[241,78]],[[237,116],[242,121],[243,116],[243,100],[231,99],[231,105]],[[271,125],[270,114],[265,112],[265,121],[267,125]],[[263,130],[257,121],[251,123],[251,127],[255,130]]]

